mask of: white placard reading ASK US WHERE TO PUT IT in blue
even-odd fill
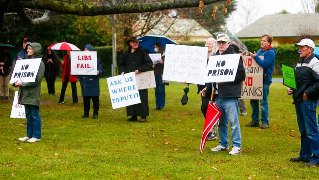
[[[106,81],[113,109],[141,103],[134,72],[109,77]]]

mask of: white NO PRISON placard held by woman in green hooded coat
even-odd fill
[[[40,62],[41,58],[17,60],[11,76],[10,84],[20,80],[25,83],[35,82]]]

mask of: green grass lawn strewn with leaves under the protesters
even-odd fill
[[[170,82],[164,111],[153,111],[150,89],[146,123],[127,121],[125,108],[112,110],[105,78],[98,119],[81,118],[82,98],[72,104],[70,84],[65,104],[57,104],[60,79],[55,86],[56,96],[49,95],[42,81],[42,140],[34,144],[18,141],[26,135],[26,120],[10,119],[12,100],[0,101],[0,179],[318,179],[319,167],[289,161],[298,156],[300,134],[292,97],[282,84],[270,86],[269,129],[245,127],[251,120],[245,101],[248,115],[239,117],[242,153],[237,156],[212,152],[218,141],[208,141],[199,153],[204,118],[196,85],[190,85],[188,104],[182,106],[186,85]]]

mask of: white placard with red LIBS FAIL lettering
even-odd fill
[[[70,57],[72,75],[96,75],[96,51],[71,51]]]

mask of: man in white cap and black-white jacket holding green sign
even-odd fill
[[[316,108],[319,98],[319,60],[313,54],[315,43],[311,39],[302,39],[294,46],[299,47],[301,60],[294,69],[296,90],[288,88],[287,93],[292,95],[292,104],[295,105],[301,134],[301,149],[299,157],[292,157],[290,161],[304,161],[307,166],[317,166],[319,164],[319,126]]]

